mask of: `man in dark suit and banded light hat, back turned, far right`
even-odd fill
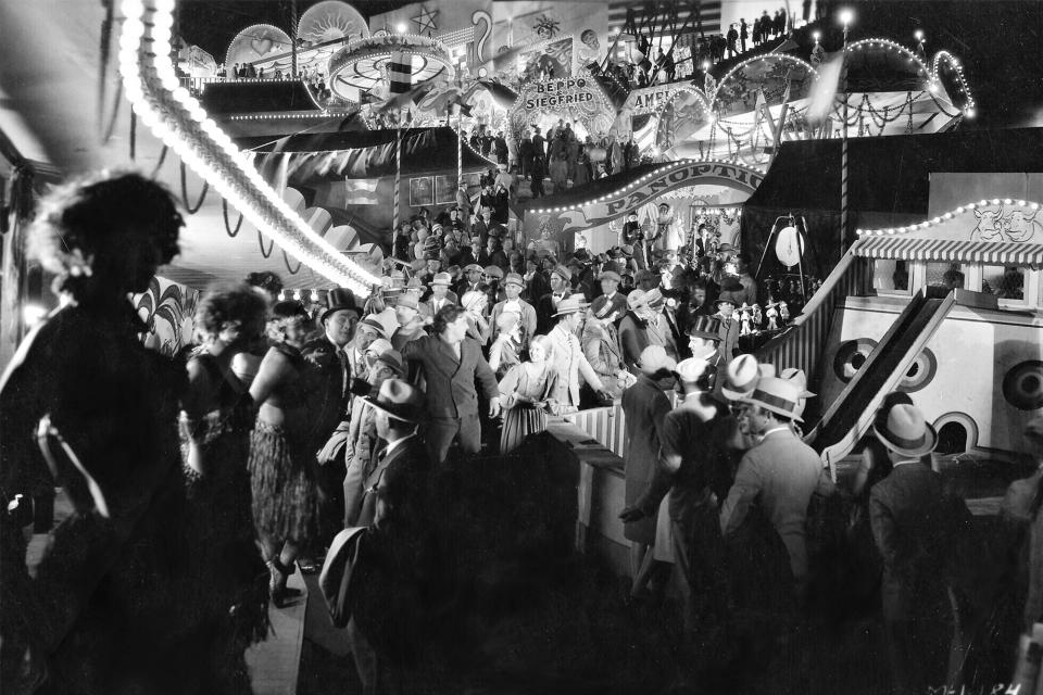
[[[884,629],[892,692],[926,692],[943,683],[948,634],[943,563],[951,516],[941,477],[920,457],[938,433],[913,405],[899,404],[874,434],[888,448],[893,469],[869,493],[872,538],[883,559]]]

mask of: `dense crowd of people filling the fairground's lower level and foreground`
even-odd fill
[[[695,679],[757,634],[757,658],[810,658],[793,652],[802,616],[834,568],[809,509],[837,491],[800,437],[806,376],[738,350],[734,308],[756,296],[745,258],[716,287],[727,256],[656,253],[659,271],[638,270],[630,289],[621,251],[566,256],[544,237],[523,271],[507,258],[454,277],[430,258],[367,298],[330,290],[312,312],[256,274],[208,290],[171,359],[143,346],[127,296],[175,256],[181,226],[171,194],[136,174],[40,203],[32,252],[62,304],[0,383],[0,668],[13,692],[250,692],[243,654],[267,634],[268,603],[293,602],[294,565],[316,567],[347,528],[366,529],[347,635],[376,692],[419,668],[447,620],[431,480],[614,402],[630,440],[627,603],[680,580],[676,649]],[[1028,432],[1036,456],[1041,432]],[[937,443],[907,394],[888,396],[845,497],[862,558],[850,577],[879,592],[902,693],[969,668],[946,662],[952,607],[973,596],[953,561],[966,508],[931,469]],[[30,572],[20,505],[55,484],[74,511]],[[1040,497],[1039,473],[1008,495],[1036,545]],[[1030,591],[1029,624],[1040,603]],[[967,614],[955,620],[966,632]]]

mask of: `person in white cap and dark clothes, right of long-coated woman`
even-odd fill
[[[714,354],[713,351],[708,353]],[[728,619],[728,582],[717,500],[731,481],[738,429],[728,405],[713,394],[716,369],[706,353],[677,365],[681,401],[663,419],[661,451],[648,491],[620,515],[652,516],[670,493],[674,560],[681,573],[684,626],[713,633]]]

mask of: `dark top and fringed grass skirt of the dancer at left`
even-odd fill
[[[306,424],[306,399],[314,383],[314,369],[289,345],[276,345],[290,363],[292,375],[276,392],[278,407],[287,421]],[[274,399],[273,399],[274,400]],[[253,521],[257,532],[269,539],[305,544],[318,535],[318,489],[315,481],[315,452],[312,432],[292,431],[285,425],[273,425],[257,418],[250,438],[251,489]]]

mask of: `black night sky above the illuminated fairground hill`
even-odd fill
[[[317,0],[298,0],[303,13]],[[441,0],[452,2],[452,0]],[[728,0],[724,0],[727,2]],[[977,124],[965,127],[1043,125],[1043,1],[1041,0],[819,0],[824,7],[851,7],[856,20],[852,41],[884,37],[913,46],[913,31],[927,35],[928,54],[951,51],[965,65],[979,105]],[[356,0],[364,16],[407,4],[403,0]],[[791,0],[799,4],[799,0]],[[289,0],[181,0],[183,36],[221,61],[229,41],[250,24],[289,28]],[[835,22],[824,25],[827,50],[839,47]]]

